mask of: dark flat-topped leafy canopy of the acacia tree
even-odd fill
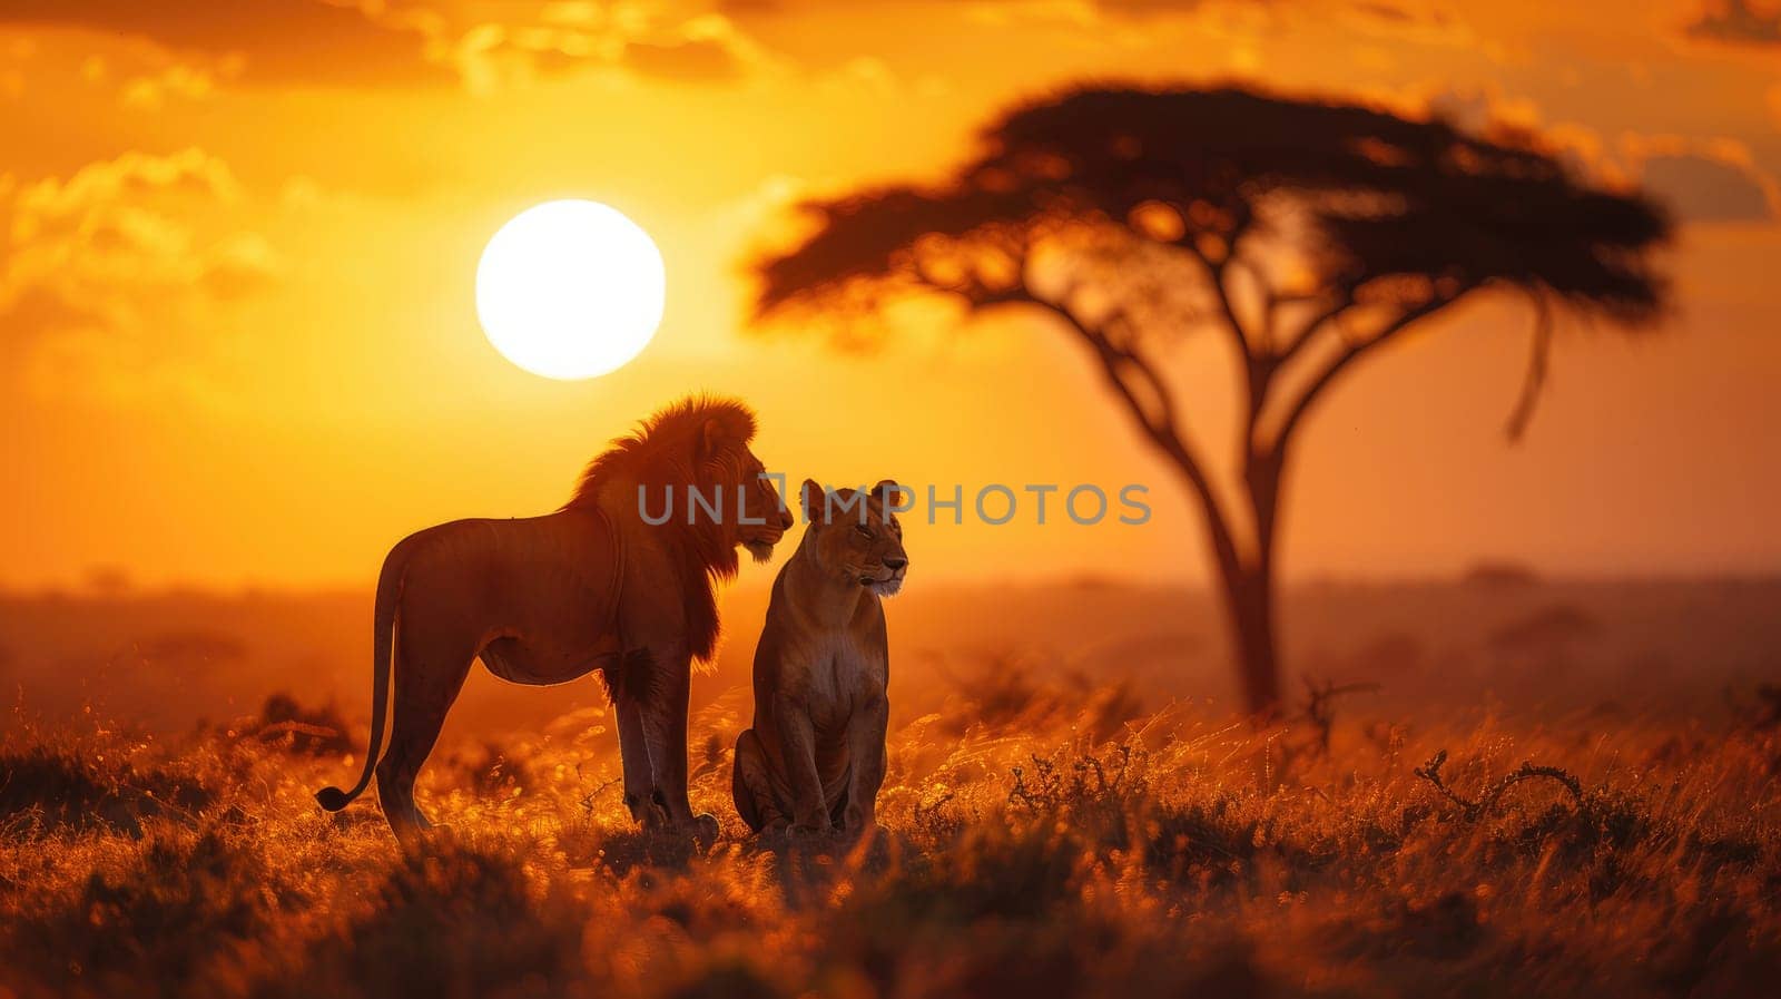
[[[1507,281],[1622,322],[1662,303],[1644,251],[1665,239],[1665,214],[1592,185],[1532,135],[1236,87],[1085,87],[1004,114],[981,141],[939,183],[805,205],[821,228],[764,262],[760,308],[883,280],[996,299],[1019,276],[1006,255],[1070,223],[1134,230],[1216,265],[1289,219],[1307,283],[1330,297],[1425,278]],[[981,258],[933,269],[926,256],[956,251],[940,240],[971,240]]]

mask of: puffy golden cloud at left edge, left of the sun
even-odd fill
[[[201,150],[0,185],[7,376],[109,397],[191,388],[230,303],[281,272],[264,237],[221,221],[240,198],[228,166]]]

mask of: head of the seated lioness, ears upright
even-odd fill
[[[858,490],[826,491],[816,479],[805,479],[803,548],[816,566],[848,586],[864,586],[878,597],[890,597],[903,588],[908,575],[908,552],[903,550],[903,524],[896,518],[901,508],[903,486],[885,479],[869,493]]]

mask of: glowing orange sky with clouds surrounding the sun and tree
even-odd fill
[[[1058,331],[928,322],[858,358],[743,324],[739,264],[800,192],[937,173],[1010,100],[1108,75],[1537,125],[1685,219],[1676,319],[1567,329],[1519,447],[1514,301],[1345,383],[1298,451],[1289,577],[1781,564],[1774,4],[212,7],[0,9],[0,586],[365,586],[411,529],[552,509],[695,388],[748,397],[798,477],[1152,486],[1143,527],[917,520],[919,572],[1199,579],[1184,497]],[[472,308],[483,242],[565,196],[668,265],[655,342],[584,383],[506,363]],[[1220,358],[1179,365],[1215,406]]]

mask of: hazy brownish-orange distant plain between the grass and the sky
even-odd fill
[[[695,743],[750,718],[766,597],[752,582],[723,602],[727,638],[714,668],[693,680]],[[1541,581],[1505,566],[1450,581],[1307,582],[1282,602],[1286,693],[1297,711],[1300,677],[1378,684],[1346,694],[1338,711],[1393,723],[1496,714],[1582,714],[1617,728],[1717,721],[1774,678],[1777,602],[1777,579]],[[1175,700],[1211,702],[1213,716],[1240,709],[1209,591],[1092,577],[1012,588],[912,577],[889,616],[894,727],[930,712],[942,725],[996,723],[983,712],[1013,716],[1060,698],[1118,700],[1102,712],[1113,719]],[[84,718],[162,735],[199,723],[258,732],[265,700],[285,693],[306,711],[337,709],[356,744],[370,709],[370,595],[0,598],[0,689],[14,721]],[[522,687],[476,668],[443,744],[595,728],[609,721],[593,677]],[[616,750],[618,741],[607,730],[593,744]]]

